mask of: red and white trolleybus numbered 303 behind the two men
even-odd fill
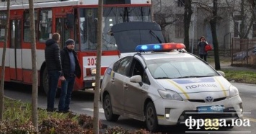
[[[109,34],[114,24],[151,22],[151,0],[103,0],[101,74],[112,61],[119,58],[118,46]],[[48,91],[45,68],[45,41],[52,33],[61,34],[60,47],[65,40],[75,40],[82,77],[76,79],[74,90],[94,88],[97,57],[97,0],[35,0],[35,31],[38,84]],[[5,81],[32,84],[30,14],[28,0],[11,1],[9,40],[5,60]],[[6,28],[6,1],[0,2],[0,63]],[[1,70],[1,65],[0,65]]]

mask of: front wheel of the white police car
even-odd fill
[[[158,128],[158,122],[156,117],[156,109],[154,107],[153,102],[149,102],[146,105],[146,127],[151,131],[155,132]]]

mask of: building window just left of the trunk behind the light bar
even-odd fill
[[[183,24],[183,14],[176,14],[177,21],[175,22],[175,37],[184,37],[184,24]]]

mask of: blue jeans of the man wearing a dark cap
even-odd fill
[[[58,102],[58,111],[69,111],[71,94],[74,88],[75,76],[65,77],[66,81],[61,81],[61,97]]]

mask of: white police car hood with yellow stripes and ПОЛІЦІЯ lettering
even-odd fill
[[[190,79],[158,79],[164,89],[176,91],[179,94],[197,94],[219,91],[222,97],[229,96],[229,81],[222,76],[190,78]]]

